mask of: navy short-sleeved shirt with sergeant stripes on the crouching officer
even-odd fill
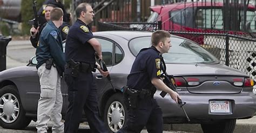
[[[151,79],[159,78],[160,74],[160,52],[153,46],[144,48],[133,62],[127,86],[136,90],[150,89],[154,87]]]

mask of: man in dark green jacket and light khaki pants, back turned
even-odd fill
[[[58,27],[63,23],[63,11],[60,8],[51,10],[50,21],[39,37],[36,49],[36,68],[41,85],[40,99],[37,108],[37,132],[47,132],[47,123],[52,121],[52,132],[64,132],[62,120],[62,92],[60,76],[64,72],[65,58],[62,37]]]

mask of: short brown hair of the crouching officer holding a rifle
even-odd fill
[[[171,34],[167,31],[163,31],[163,30],[158,30],[153,32],[152,36],[151,36],[151,43],[153,46],[157,46],[157,44],[159,42],[163,42],[165,40],[165,38],[170,38]]]

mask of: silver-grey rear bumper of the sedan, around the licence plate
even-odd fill
[[[164,119],[186,120],[183,110],[167,94],[160,97],[157,91],[154,98],[157,99],[163,111]],[[220,120],[220,119],[246,119],[252,117],[256,110],[256,95],[252,92],[239,94],[192,94],[179,93],[181,99],[186,102],[183,106],[191,120]],[[210,113],[210,100],[228,100],[231,102],[230,113]]]

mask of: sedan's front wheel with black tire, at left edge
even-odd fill
[[[24,129],[31,122],[31,118],[25,116],[21,98],[17,88],[13,85],[0,89],[0,125],[8,129]]]

